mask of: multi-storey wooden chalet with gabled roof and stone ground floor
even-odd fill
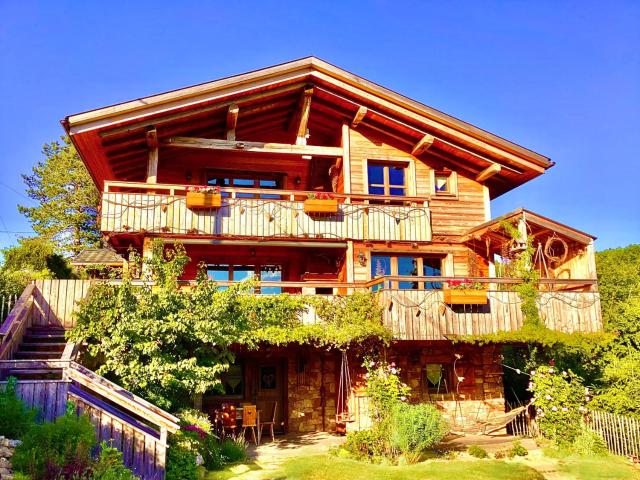
[[[187,249],[185,280],[204,262],[222,285],[257,276],[260,294],[379,292],[395,338],[387,357],[414,399],[456,423],[504,411],[499,346],[451,339],[522,326],[518,280],[501,276],[496,260],[508,262],[527,235],[544,322],[602,328],[594,237],[524,209],[491,217],[491,199],[552,161],[317,58],[62,123],[102,192],[100,228],[115,251],[148,255],[160,237]],[[521,237],[506,235],[503,221]],[[460,280],[483,288],[461,299],[449,288]],[[33,325],[69,327],[85,291],[39,282]],[[200,406],[247,401],[269,411],[277,402],[283,430],[335,430],[341,362],[301,346],[240,353],[225,395]],[[347,428],[364,428],[367,399],[353,375]]]

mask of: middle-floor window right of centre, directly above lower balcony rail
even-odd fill
[[[388,275],[406,277],[439,277],[442,275],[441,257],[413,255],[371,255],[371,278]],[[380,288],[380,286],[378,286]],[[400,289],[440,289],[441,282],[393,282],[392,288]]]

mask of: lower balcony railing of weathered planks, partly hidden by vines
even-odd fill
[[[354,291],[376,291],[383,307],[382,321],[398,340],[445,340],[459,335],[515,331],[522,326],[521,300],[513,288],[518,283],[517,279],[471,279],[486,285],[487,303],[484,305],[446,303],[442,289],[399,288],[412,282],[417,286],[440,283],[446,287],[449,280],[459,279],[383,277],[366,283],[257,282],[255,288],[259,292],[267,287],[277,287],[285,293],[303,295],[326,292],[329,298]],[[86,295],[91,282],[38,280],[33,294],[33,325],[72,327],[76,302]],[[231,283],[219,282],[219,285]],[[595,280],[542,280],[537,305],[542,320],[550,329],[567,333],[602,330],[600,294],[596,291]],[[313,309],[305,312],[300,320],[304,323],[321,321]]]

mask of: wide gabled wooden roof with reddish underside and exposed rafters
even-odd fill
[[[305,89],[313,89],[310,127],[312,142],[320,142],[316,145],[336,144],[336,126],[355,125],[362,114],[361,128],[387,133],[408,151],[428,139],[429,148],[415,150],[416,156],[436,156],[486,181],[493,197],[553,165],[543,155],[315,57],[70,115],[62,122],[100,185],[141,175],[145,132],[151,127],[161,141],[176,135],[222,138],[227,109],[235,105],[238,139],[263,141],[254,137],[286,132]]]

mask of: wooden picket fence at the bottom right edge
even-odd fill
[[[640,458],[640,420],[592,410],[588,426],[604,438],[612,453]]]

